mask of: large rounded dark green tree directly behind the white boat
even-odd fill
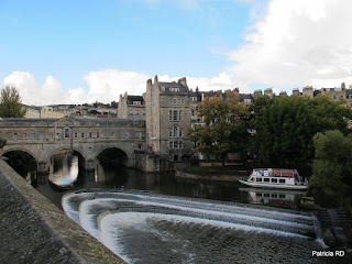
[[[305,98],[276,98],[257,116],[252,151],[265,165],[302,165],[314,155],[312,136],[318,132],[316,123],[315,112]]]

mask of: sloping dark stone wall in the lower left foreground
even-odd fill
[[[125,263],[0,158],[0,263]]]

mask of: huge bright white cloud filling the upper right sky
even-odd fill
[[[339,86],[352,76],[349,0],[271,0],[228,70],[250,84]]]

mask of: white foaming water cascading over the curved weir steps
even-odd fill
[[[283,241],[287,241],[284,238],[305,239],[305,241],[308,241],[307,239],[317,232],[315,230],[317,223],[314,222],[315,216],[307,212],[235,202],[143,194],[141,191],[72,193],[63,197],[62,205],[67,216],[130,263],[143,263],[145,261],[139,260],[139,257],[143,258],[147,253],[144,255],[131,255],[130,253],[131,246],[133,250],[135,241],[141,240],[138,235],[142,234],[143,238],[146,232],[151,234],[148,240],[156,237],[162,243],[167,242],[169,254],[175,256],[177,263],[193,263],[194,258],[199,261],[198,251],[195,251],[194,244],[188,245],[190,251],[179,249],[179,246],[187,245],[187,239],[179,237],[182,235],[178,234],[179,230],[173,230],[173,224],[168,226],[168,223],[180,224],[180,232],[187,229],[187,224],[190,226],[190,229],[195,224],[198,224],[198,228],[204,227],[201,230],[205,229],[205,232],[212,232],[212,229],[220,230],[220,234],[218,231],[213,231],[215,235],[220,237],[227,235],[227,232],[221,230],[229,229],[232,230],[230,237],[233,239],[237,239],[237,232],[241,232],[237,240],[248,239],[254,232],[282,238],[279,240]],[[155,223],[155,227],[150,227],[150,221],[166,221],[167,224]],[[100,230],[98,230],[98,227]],[[160,227],[162,227],[161,230],[158,229]],[[133,230],[139,234],[135,234]],[[249,234],[245,234],[246,232]],[[128,237],[125,237],[127,234]],[[256,238],[257,235],[255,234],[254,237]],[[263,235],[257,238],[261,241],[263,240]],[[319,242],[317,233],[316,239]],[[197,239],[191,238],[190,240],[193,242],[189,243],[195,241],[198,243]],[[276,241],[273,238],[272,240]],[[169,245],[173,243],[178,248]],[[210,246],[213,246],[213,243],[217,244],[213,241]],[[143,250],[142,242],[139,242],[139,246],[142,246]],[[151,250],[150,246],[147,245]],[[128,256],[130,260],[127,258]]]

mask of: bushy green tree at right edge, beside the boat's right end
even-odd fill
[[[333,193],[352,187],[352,135],[340,131],[317,133],[314,138],[316,160],[309,186]]]

